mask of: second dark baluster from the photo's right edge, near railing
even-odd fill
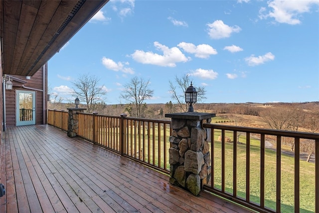
[[[300,138],[295,138],[295,213],[300,212]]]

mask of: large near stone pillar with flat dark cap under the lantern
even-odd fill
[[[182,187],[197,196],[202,184],[211,178],[210,132],[202,128],[210,123],[213,113],[171,113],[172,134],[169,142],[170,178],[172,185]]]

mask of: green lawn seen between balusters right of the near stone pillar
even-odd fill
[[[221,143],[214,143],[214,184],[221,188]],[[226,143],[226,191],[233,193],[233,144]],[[260,203],[260,146],[250,146],[250,200]],[[237,195],[245,198],[246,145],[237,145]],[[294,212],[294,158],[282,155],[281,159],[281,212]],[[315,164],[300,162],[301,212],[315,211]],[[276,208],[276,152],[265,151],[265,206]]]

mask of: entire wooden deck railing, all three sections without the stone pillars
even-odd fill
[[[65,116],[63,112],[63,115]],[[146,164],[152,168],[160,170],[166,174],[169,174],[169,163],[168,163],[168,149],[171,146],[169,143],[169,136],[171,135],[170,120],[157,120],[157,119],[144,119],[144,118],[133,118],[126,117],[126,115],[121,116],[108,116],[108,115],[98,115],[98,114],[88,114],[88,113],[78,113],[79,116],[79,132],[78,136],[86,139],[92,143],[98,144],[106,149],[113,152],[131,158],[142,164]],[[61,119],[60,119],[61,118]],[[61,127],[67,127],[67,119],[62,119],[62,113],[59,114],[57,111],[49,110],[48,112],[48,124],[56,126],[61,129]],[[210,131],[210,154],[211,154],[211,178],[210,181],[203,185],[205,191],[217,194],[229,200],[232,200],[240,205],[249,207],[253,210],[259,212],[281,212],[281,170],[282,167],[282,138],[288,137],[293,138],[295,141],[295,151],[294,151],[294,211],[296,213],[300,212],[300,145],[301,141],[304,139],[315,141],[315,156],[319,155],[319,134],[318,133],[308,133],[308,132],[293,132],[284,130],[271,130],[262,128],[251,128],[251,127],[238,127],[229,125],[218,125],[218,124],[203,124],[203,128]],[[63,130],[66,131],[64,128]],[[220,134],[220,142],[217,142],[214,137],[216,134]],[[245,170],[246,170],[246,181],[245,181],[245,196],[241,197],[238,192],[238,168],[239,154],[237,153],[239,147],[237,145],[238,135],[240,133],[245,134],[244,144],[245,144]],[[229,143],[226,143],[227,135],[232,135],[232,161],[226,162],[226,148]],[[254,174],[251,172],[251,139],[259,135],[259,149],[260,149],[260,186],[259,186],[259,202],[255,202],[250,198],[251,196],[251,183],[250,177]],[[276,192],[275,192],[275,206],[269,209],[266,205],[266,194],[265,185],[269,184],[265,182],[265,168],[266,160],[266,146],[267,137],[274,137],[276,144]],[[221,183],[220,185],[215,184],[216,176],[214,175],[214,170],[217,170],[218,165],[214,163],[216,160],[216,148],[215,146],[219,143],[221,152]],[[227,156],[228,157],[228,156]],[[232,164],[232,192],[226,189],[226,172],[225,165]],[[229,181],[229,180],[227,180]],[[315,157],[315,212],[319,212],[319,158]]]

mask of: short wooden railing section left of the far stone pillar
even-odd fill
[[[68,112],[48,110],[47,123],[63,131],[68,130]]]

